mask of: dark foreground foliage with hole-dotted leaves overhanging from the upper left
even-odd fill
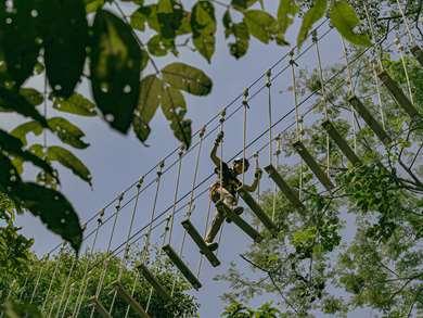
[[[377,15],[380,1],[371,2],[370,11]],[[80,246],[81,227],[73,206],[57,191],[57,170],[51,164],[61,164],[89,183],[92,176],[69,149],[89,144],[66,113],[101,116],[123,133],[132,127],[145,142],[150,120],[161,106],[176,138],[188,148],[191,120],[185,118],[184,94],[208,94],[211,79],[194,66],[180,62],[161,66],[156,60],[178,58],[193,49],[211,63],[219,21],[229,52],[236,59],[246,54],[253,38],[265,44],[289,44],[285,33],[296,16],[303,18],[298,46],[325,15],[348,41],[370,43],[355,13],[360,1],[281,0],[274,12],[274,5],[258,0],[198,0],[191,4],[176,0],[0,3],[0,110],[30,119],[10,132],[0,130],[0,191],[17,208],[39,216],[75,250]],[[411,13],[415,13],[414,7]],[[44,81],[43,91],[27,85],[34,78]],[[78,92],[80,81],[91,86],[93,102]],[[51,114],[51,107],[54,116],[47,117],[46,110]],[[63,144],[28,144],[29,133],[54,133]],[[38,169],[36,183],[21,178],[27,163]]]

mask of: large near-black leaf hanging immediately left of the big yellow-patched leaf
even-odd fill
[[[40,20],[47,77],[55,94],[68,98],[82,74],[88,44],[84,0],[44,0]],[[60,12],[60,18],[57,13]]]

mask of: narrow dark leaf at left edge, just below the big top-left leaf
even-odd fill
[[[36,110],[34,105],[20,93],[0,86],[0,105],[8,110],[13,110],[21,115],[30,117],[43,127],[48,127],[46,118]]]

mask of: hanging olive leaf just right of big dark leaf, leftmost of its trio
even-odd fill
[[[161,103],[162,86],[162,80],[155,75],[148,75],[141,80],[140,100],[136,111],[137,123],[133,129],[142,142],[149,138],[151,131],[149,124]]]

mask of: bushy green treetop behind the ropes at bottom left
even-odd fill
[[[60,304],[62,304],[60,315],[68,317],[74,313],[77,303],[81,302],[81,309],[78,317],[90,317],[92,308],[92,306],[90,306],[90,298],[95,294],[98,283],[104,271],[103,265],[105,257],[107,257],[107,254],[105,253],[95,253],[93,255],[87,254],[86,256],[76,258],[73,253],[63,251],[51,259],[33,259],[29,272],[28,268],[20,275],[15,275],[15,272],[2,272],[0,283],[4,287],[4,290],[11,291],[11,293],[0,296],[0,302],[4,303],[4,311],[8,310],[8,306],[10,307],[10,310],[12,310],[11,308],[17,308],[15,310],[28,310],[26,308],[30,308],[34,310],[35,306],[38,310],[41,310],[42,308],[44,314],[50,311],[55,314],[59,313]],[[134,268],[136,264],[140,260],[140,257],[141,255],[134,252],[129,254],[127,266],[125,266],[121,271],[120,283],[126,288],[128,293],[131,293],[133,282],[137,280],[133,298],[145,308],[152,289]],[[74,263],[75,266],[73,266]],[[86,283],[82,285],[87,268],[89,269],[89,275],[87,276],[88,279],[85,279]],[[116,256],[108,256],[107,270],[104,276],[104,288],[100,294],[100,301],[105,308],[111,306],[114,297],[113,283],[117,280],[120,268],[121,259]],[[156,274],[156,278],[166,289],[171,291],[174,283],[175,289],[170,304],[166,303],[165,300],[153,292],[151,294],[149,313],[153,317],[194,316],[197,311],[197,304],[193,296],[185,294],[190,289],[190,285],[185,280],[174,274],[170,264],[164,259],[157,258],[157,260],[150,265],[150,268]],[[55,275],[53,277],[54,272]],[[40,277],[39,280],[38,277]],[[67,280],[67,289],[64,292]],[[33,297],[36,285],[36,293]],[[82,297],[84,289],[86,292]],[[28,306],[31,298],[33,306]],[[16,304],[18,304],[18,306]],[[44,307],[42,307],[43,305]],[[127,306],[127,303],[121,298],[116,297],[113,310],[114,317],[124,317]],[[138,314],[131,309],[129,317],[138,317]]]

